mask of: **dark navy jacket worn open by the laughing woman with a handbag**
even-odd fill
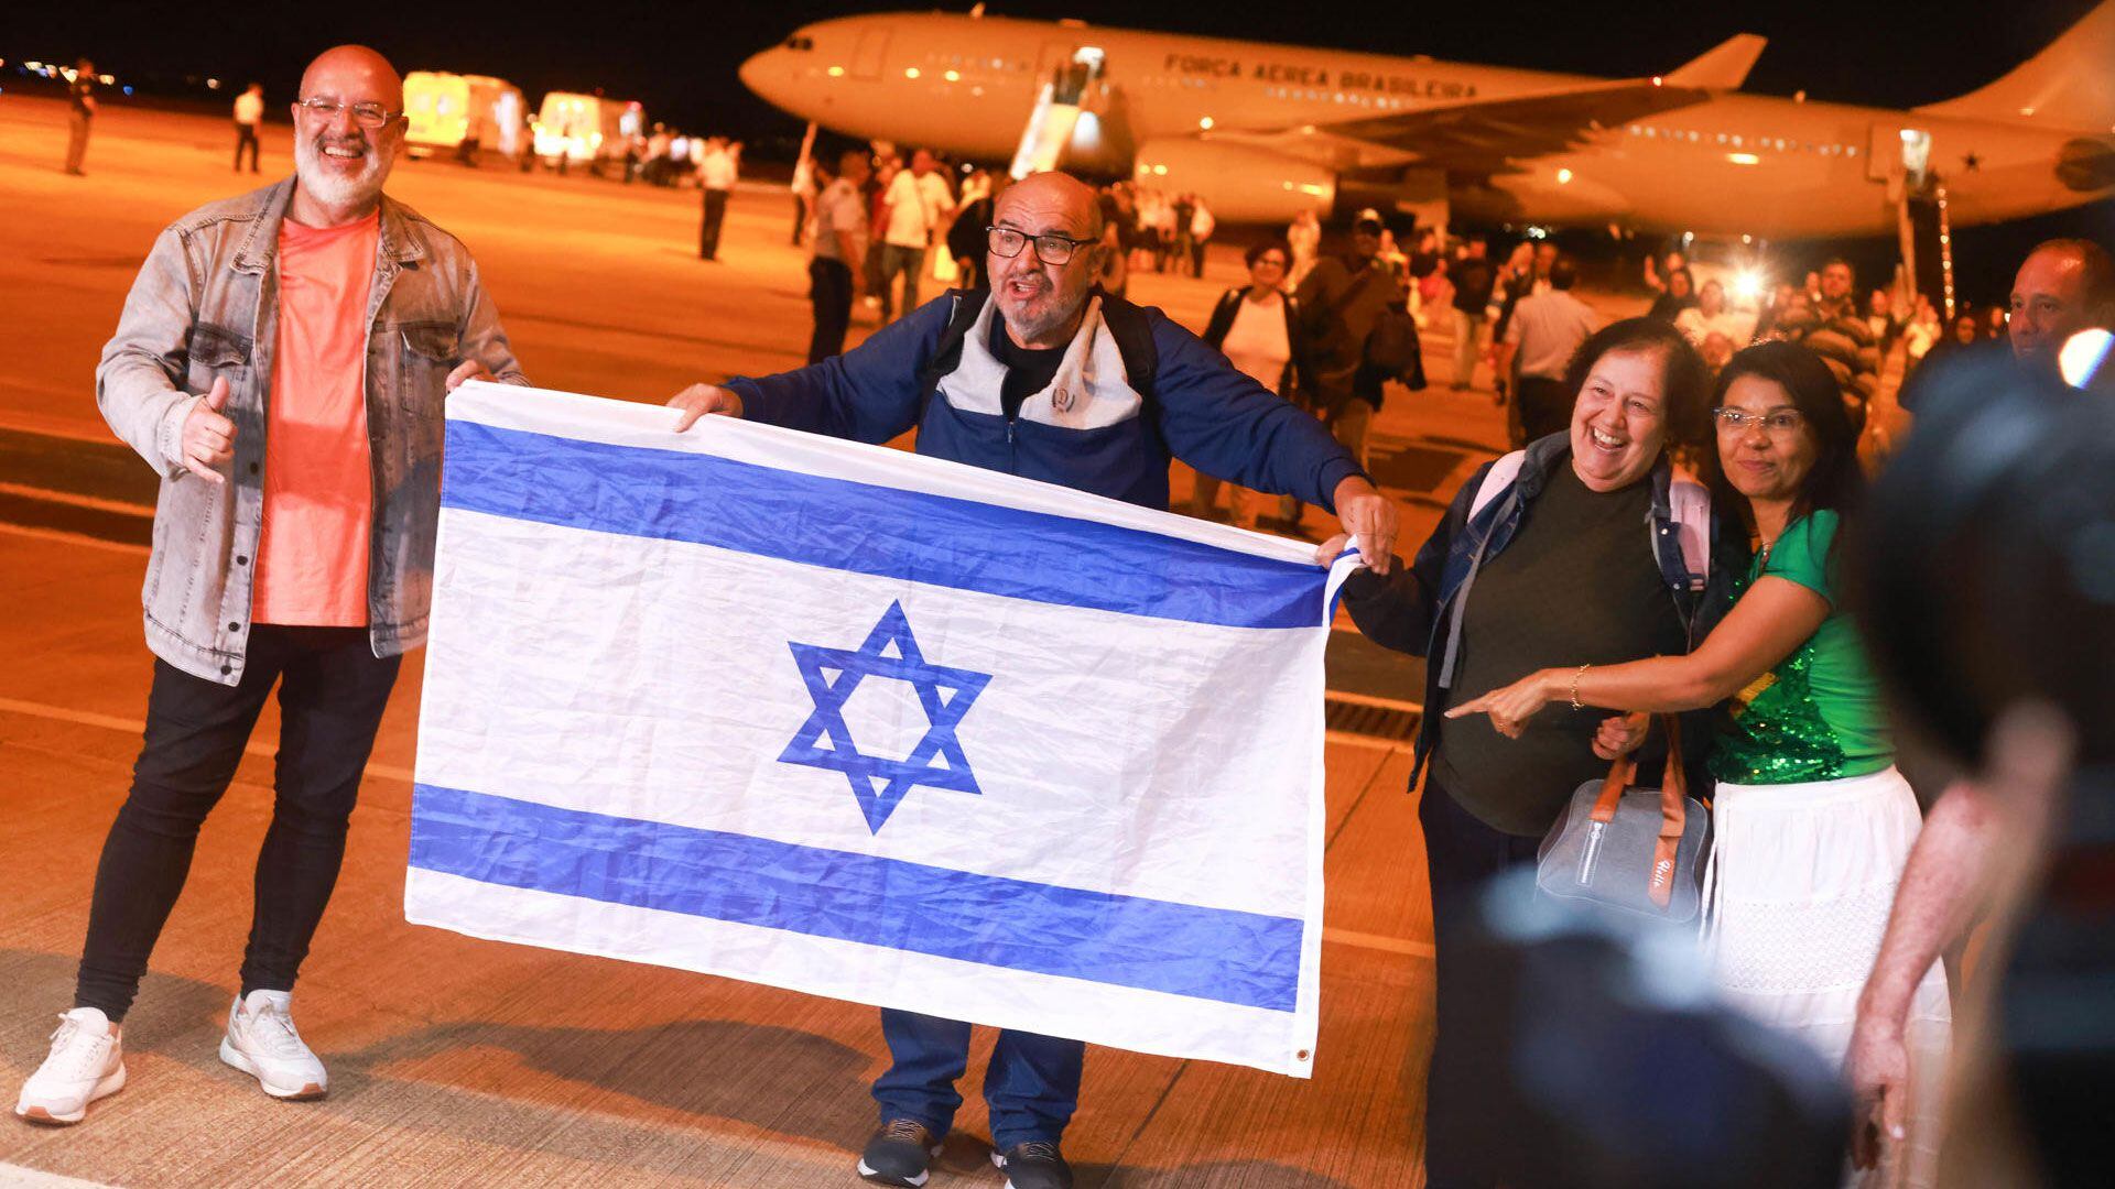
[[[1426,713],[1417,726],[1411,787],[1417,787],[1417,776],[1432,749],[1438,747],[1440,730],[1445,730],[1447,719],[1440,711],[1449,707],[1447,685],[1461,647],[1457,624],[1461,605],[1476,584],[1476,571],[1512,544],[1521,520],[1559,465],[1571,465],[1569,432],[1529,442],[1521,474],[1470,516],[1483,476],[1491,470],[1491,463],[1485,463],[1455,493],[1438,529],[1417,550],[1417,561],[1406,567],[1394,565],[1387,575],[1360,569],[1343,584],[1345,609],[1351,611],[1351,622],[1366,639],[1426,658]],[[1732,607],[1732,582],[1747,573],[1747,539],[1743,533],[1722,531],[1724,510],[1713,508],[1711,567],[1705,588],[1692,590],[1669,497],[1671,482],[1673,472],[1662,457],[1652,468],[1652,512],[1639,531],[1652,535],[1660,578],[1667,582],[1667,594],[1675,601],[1688,645],[1694,650]],[[1470,694],[1483,694],[1483,690],[1470,690]],[[1690,711],[1681,719],[1690,789],[1703,795],[1711,787],[1703,760],[1711,745],[1715,711]]]

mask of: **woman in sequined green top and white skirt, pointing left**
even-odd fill
[[[1734,355],[1713,404],[1709,478],[1728,508],[1745,510],[1755,561],[1705,643],[1684,656],[1544,669],[1447,717],[1485,713],[1500,734],[1519,736],[1550,702],[1688,711],[1730,698],[1732,724],[1711,749],[1707,903],[1719,990],[1842,1060],[1923,821],[1838,594],[1838,527],[1861,491],[1857,432],[1827,364],[1791,343]],[[1603,730],[1605,747],[1641,738],[1641,713],[1622,721]],[[1931,1183],[1948,1030],[1946,980],[1933,965],[1908,1035],[1916,1130],[1897,1149],[1901,1168],[1876,1170],[1876,1185]]]

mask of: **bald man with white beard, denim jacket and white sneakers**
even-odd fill
[[[169,224],[104,347],[104,419],[161,474],[154,681],[74,1007],[23,1119],[76,1123],[125,1085],[118,1022],[273,685],[277,802],[220,1060],[273,1098],[330,1085],[294,1030],[294,975],[398,664],[425,641],[442,400],[527,383],[470,252],[383,195],[404,129],[389,61],[326,51],[294,102],[294,178]]]

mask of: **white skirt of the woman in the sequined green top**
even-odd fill
[[[1719,785],[1705,929],[1724,999],[1840,1064],[1920,827],[1916,795],[1895,768],[1806,785]],[[1946,971],[1933,963],[1904,1032],[1906,1159],[1846,1174],[1844,1185],[1933,1185],[1950,1032]]]

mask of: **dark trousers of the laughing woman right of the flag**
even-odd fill
[[[1487,988],[1474,967],[1447,961],[1447,941],[1474,916],[1476,893],[1493,876],[1535,861],[1540,838],[1491,829],[1453,800],[1438,781],[1426,781],[1417,804],[1426,831],[1426,870],[1432,876],[1434,969],[1432,1068],[1426,1075],[1426,1183],[1432,1189],[1495,1185],[1487,1151],[1491,1121],[1466,1111],[1478,1079],[1491,1077],[1491,1054],[1461,1035],[1464,1013],[1474,1011]]]

